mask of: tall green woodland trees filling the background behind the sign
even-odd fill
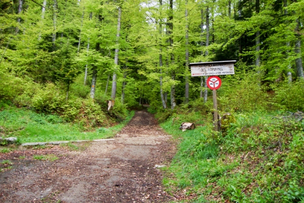
[[[220,60],[237,60],[236,74],[221,76],[222,111],[304,107],[302,1],[4,0],[0,9],[4,108],[96,125],[110,119],[109,99],[121,119],[144,103],[208,109],[206,78],[190,77],[188,63]]]

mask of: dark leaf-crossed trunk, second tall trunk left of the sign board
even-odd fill
[[[169,0],[169,22],[168,22],[168,35],[169,35],[169,43],[170,46],[173,46],[173,37],[172,37],[172,32],[173,32],[173,0]],[[174,63],[174,54],[171,53],[171,63]],[[172,70],[171,73],[171,79],[175,80],[175,70]],[[176,106],[175,102],[175,85],[171,86],[171,93],[170,93],[170,98],[171,98],[171,109],[174,110]]]

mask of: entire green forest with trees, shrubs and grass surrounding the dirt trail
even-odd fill
[[[303,20],[302,0],[2,0],[0,135],[105,138],[148,104],[182,137],[170,190],[192,188],[197,202],[301,202]],[[215,133],[207,77],[191,77],[189,63],[226,60],[235,75],[220,76],[218,111],[233,116]],[[182,122],[197,129],[181,135]],[[46,123],[62,128],[34,127]]]

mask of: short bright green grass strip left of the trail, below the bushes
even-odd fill
[[[134,116],[109,128],[83,131],[82,126],[64,122],[59,116],[37,114],[12,107],[0,112],[0,136],[17,137],[19,143],[106,139],[114,136]]]

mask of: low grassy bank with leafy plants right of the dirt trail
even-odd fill
[[[178,129],[198,114],[172,115],[161,124],[180,140],[163,180],[168,192],[186,190],[192,202],[304,202],[303,120],[239,113],[224,134],[203,116],[195,130]]]

